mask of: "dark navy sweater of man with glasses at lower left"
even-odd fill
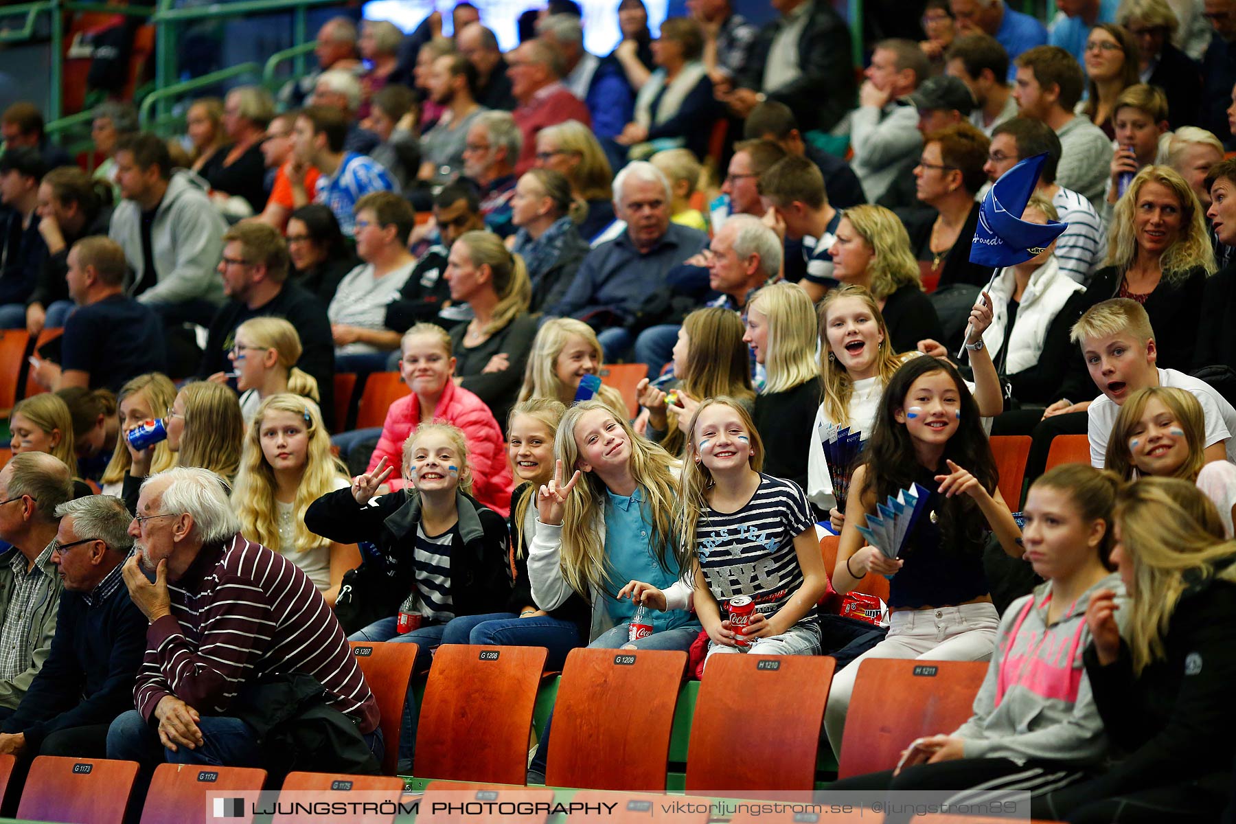
[[[91,593],[66,589],[47,661],[0,733],[23,733],[36,749],[57,730],[110,724],[132,709],[147,625],[120,566]]]

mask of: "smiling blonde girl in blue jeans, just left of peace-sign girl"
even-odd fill
[[[515,587],[507,612],[462,615],[442,634],[442,644],[543,646],[545,666],[561,668],[566,654],[587,640],[588,604],[578,595],[554,610],[536,605],[528,578],[528,546],[536,534],[536,490],[554,477],[554,436],[566,406],[549,398],[517,405],[507,423],[507,457],[520,486],[510,497],[510,555]]]

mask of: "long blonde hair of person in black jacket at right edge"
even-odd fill
[[[1180,478],[1141,478],[1116,495],[1120,544],[1133,565],[1128,646],[1133,672],[1167,657],[1167,635],[1180,595],[1210,578],[1236,583],[1236,555],[1210,499]]]

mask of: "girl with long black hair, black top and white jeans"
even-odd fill
[[[850,592],[869,572],[890,578],[884,641],[833,678],[824,725],[839,752],[858,665],[868,657],[985,661],[999,618],[983,566],[988,531],[1012,557],[1023,550],[1000,497],[979,408],[948,362],[911,358],[889,380],[875,427],[850,479],[832,584]],[[858,526],[876,504],[920,484],[927,503],[899,556],[868,546]],[[892,547],[887,547],[892,549]]]

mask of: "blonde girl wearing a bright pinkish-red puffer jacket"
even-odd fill
[[[429,423],[451,424],[467,439],[476,499],[506,518],[510,513],[513,483],[502,429],[483,400],[456,385],[452,348],[450,335],[434,324],[417,324],[404,334],[399,374],[412,394],[391,404],[368,472],[376,472],[382,460],[402,468],[402,445],[409,435]],[[403,487],[402,477],[391,481],[392,489]]]

